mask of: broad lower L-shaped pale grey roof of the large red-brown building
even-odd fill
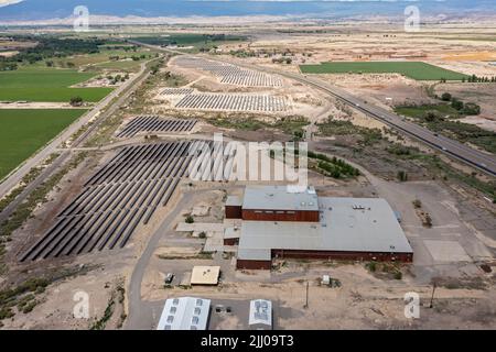
[[[271,249],[412,253],[389,204],[320,198],[320,222],[242,221],[238,257],[270,260]]]

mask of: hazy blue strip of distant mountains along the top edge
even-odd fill
[[[80,4],[86,6],[93,15],[117,18],[399,16],[410,4],[418,6],[424,16],[463,18],[473,13],[496,13],[496,0],[0,0],[0,22],[65,19]]]

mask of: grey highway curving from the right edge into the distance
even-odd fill
[[[132,43],[152,47],[154,50],[174,53],[174,54],[187,55],[187,56],[192,56],[192,57],[203,57],[203,56],[185,54],[185,53],[182,53],[179,51],[163,48],[160,46],[149,45],[149,44],[144,44],[141,42],[133,41]],[[273,69],[273,68],[268,68],[268,67],[261,67],[261,66],[257,66],[257,65],[233,62],[230,59],[220,58],[217,56],[208,56],[208,57],[204,57],[204,58],[208,58],[208,59],[220,62],[220,63],[237,65],[237,66],[245,67],[248,69],[260,70],[260,72],[265,72],[265,73],[272,74],[272,75],[283,76],[285,78],[298,80],[304,85],[317,88],[317,89],[328,94],[330,96],[337,98],[338,100],[345,102],[349,107],[352,107],[356,110],[359,110],[371,118],[382,121],[384,123],[396,129],[397,131],[399,131],[410,138],[417,139],[418,141],[423,142],[424,144],[440,151],[443,154],[446,154],[446,155],[454,157],[461,162],[464,162],[473,167],[476,167],[477,169],[479,169],[488,175],[496,176],[496,157],[493,154],[474,150],[463,143],[451,140],[441,134],[434,133],[414,122],[410,122],[410,121],[397,116],[396,113],[393,113],[389,110],[377,107],[362,98],[358,98],[358,97],[345,91],[344,89],[341,89],[333,85],[330,85],[319,78],[309,77],[309,76],[302,75],[302,74],[282,72],[279,69]]]

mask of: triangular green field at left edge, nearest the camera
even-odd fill
[[[0,179],[86,110],[0,109]]]

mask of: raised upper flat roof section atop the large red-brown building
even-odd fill
[[[242,209],[260,210],[319,210],[313,187],[247,186]]]

